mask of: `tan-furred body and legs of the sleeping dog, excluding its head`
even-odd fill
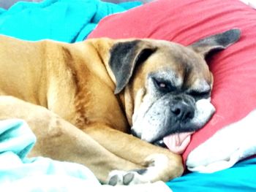
[[[37,136],[31,156],[84,164],[103,182],[113,169],[148,166],[144,159],[157,153],[168,161],[151,181],[178,177],[184,170],[180,155],[125,134],[135,99],[143,98],[137,92],[144,82],[138,77],[125,91],[113,94],[116,80],[108,61],[115,43],[0,37],[0,119],[22,118],[29,123]],[[141,70],[138,75],[145,75],[147,71]]]

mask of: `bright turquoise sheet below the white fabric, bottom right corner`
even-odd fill
[[[211,174],[189,173],[167,183],[173,192],[256,191],[256,158]]]

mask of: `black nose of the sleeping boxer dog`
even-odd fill
[[[173,112],[173,115],[176,116],[178,120],[181,120],[182,122],[186,122],[188,120],[191,120],[194,118],[195,115],[195,109],[191,105],[184,103],[184,102],[178,102],[175,104],[171,111]]]

